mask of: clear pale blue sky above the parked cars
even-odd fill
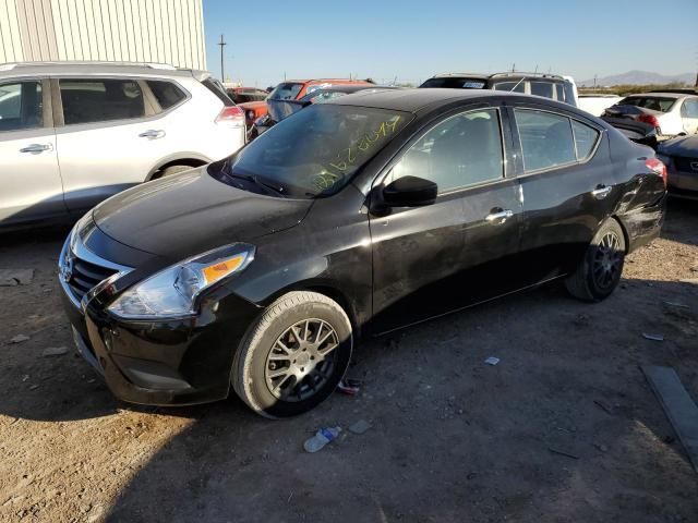
[[[204,0],[207,68],[245,86],[285,77],[418,83],[448,71],[552,71],[577,82],[698,70],[698,0]]]

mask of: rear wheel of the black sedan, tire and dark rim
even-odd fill
[[[565,280],[569,294],[585,302],[609,297],[621,281],[625,252],[623,229],[614,219],[607,220],[587,247],[577,270]]]

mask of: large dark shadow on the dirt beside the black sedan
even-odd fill
[[[595,306],[549,287],[365,342],[349,370],[361,394],[293,419],[238,400],[189,409],[107,521],[650,521],[675,497],[689,514],[690,464],[638,365],[675,366],[698,392],[698,318],[661,303],[697,285],[624,285]],[[604,325],[619,306],[633,313]],[[303,452],[317,428],[362,418],[364,435]]]

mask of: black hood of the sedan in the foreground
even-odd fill
[[[231,187],[202,167],[119,193],[93,218],[124,245],[179,260],[294,227],[312,204]]]

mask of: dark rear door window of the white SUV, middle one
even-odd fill
[[[143,92],[134,80],[59,80],[63,122],[127,120],[145,115]]]

